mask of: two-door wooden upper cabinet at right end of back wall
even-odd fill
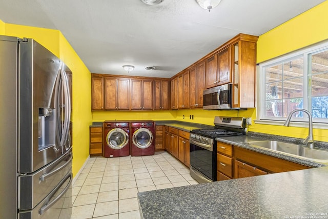
[[[156,80],[154,82],[154,109],[169,109],[169,88],[170,82],[166,80]]]

